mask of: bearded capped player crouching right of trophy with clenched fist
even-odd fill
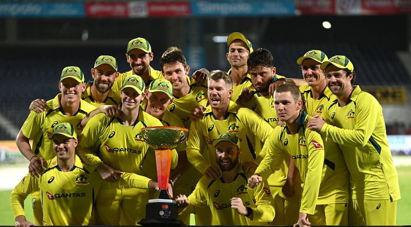
[[[221,177],[203,176],[187,198],[176,198],[181,212],[196,213],[201,206],[211,209],[212,225],[264,225],[275,216],[274,201],[266,181],[255,188],[247,187],[247,174],[239,156],[240,141],[234,133],[222,133],[213,142]]]

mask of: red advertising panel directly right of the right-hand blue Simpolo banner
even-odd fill
[[[335,14],[335,2],[328,0],[295,0],[296,13],[307,14]]]

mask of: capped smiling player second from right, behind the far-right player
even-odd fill
[[[309,50],[297,59],[307,85],[300,86],[303,108],[310,116],[321,115],[327,102],[336,97],[327,87],[321,63],[328,61],[321,50]],[[313,225],[348,225],[349,173],[338,144],[322,136],[324,141],[324,167]]]

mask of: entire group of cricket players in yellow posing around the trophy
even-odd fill
[[[34,100],[16,137],[30,161],[11,194],[16,226],[136,225],[159,193],[148,126],[189,129],[167,189],[185,224],[194,214],[196,225],[395,225],[401,196],[382,107],[353,85],[347,56],[309,50],[296,60],[303,79],[288,79],[244,34],[227,47],[228,72],[189,76],[177,47],[155,70],[141,37],[127,45],[127,72],[110,55],[88,83],[65,67],[61,93]]]

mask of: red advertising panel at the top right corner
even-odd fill
[[[362,0],[363,14],[397,14],[410,13],[409,0]]]

